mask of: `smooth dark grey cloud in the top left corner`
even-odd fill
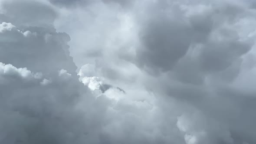
[[[48,26],[57,16],[49,2],[40,0],[2,0],[1,9],[5,14],[0,16],[4,18],[0,22],[12,22],[15,26]]]

